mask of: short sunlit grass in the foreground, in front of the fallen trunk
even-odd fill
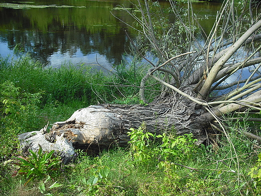
[[[208,156],[214,159],[215,153],[208,152]],[[221,160],[229,151],[221,149],[218,153],[223,155],[222,158],[218,156],[217,160]],[[82,155],[76,163],[64,167],[60,176],[52,181],[63,185],[47,192],[52,195],[246,195],[247,192],[248,195],[257,195],[253,194],[253,183],[246,175],[253,162],[251,159],[255,159],[250,157],[239,157],[237,186],[238,176],[229,172],[234,169],[229,159],[217,164],[215,160],[206,159],[199,150],[190,160],[182,162],[184,166],[197,170],[173,164],[159,168],[156,159],[152,164],[134,165],[129,149],[115,148],[104,151],[99,157]],[[93,186],[84,183],[83,179],[88,180],[99,166],[109,168],[108,177],[98,180]],[[16,177],[12,180],[8,195],[41,195],[37,187],[39,181],[32,181],[24,187],[25,179]]]

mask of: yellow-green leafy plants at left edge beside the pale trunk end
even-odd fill
[[[0,84],[0,157],[10,156],[18,146],[17,134],[25,130],[33,131],[40,122],[37,111],[41,92],[21,92],[12,81]],[[37,121],[37,124],[34,122]]]

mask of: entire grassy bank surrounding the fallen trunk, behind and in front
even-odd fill
[[[27,55],[0,58],[0,194],[259,195],[259,177],[248,175],[256,165],[259,144],[236,131],[247,128],[239,122],[233,123],[227,136],[213,134],[211,145],[196,147],[189,135],[148,135],[141,128],[131,131],[130,146],[97,157],[78,151],[73,164],[56,164],[54,157],[40,152],[46,161],[41,168],[37,161],[12,164],[21,163],[15,159],[21,155],[16,140],[20,133],[64,121],[75,110],[93,104],[139,104],[139,89],[131,84],[139,85],[146,71],[134,68],[119,65],[113,74],[104,74],[69,64],[44,69]],[[31,160],[33,154],[27,158]],[[17,175],[22,166],[24,175]]]

